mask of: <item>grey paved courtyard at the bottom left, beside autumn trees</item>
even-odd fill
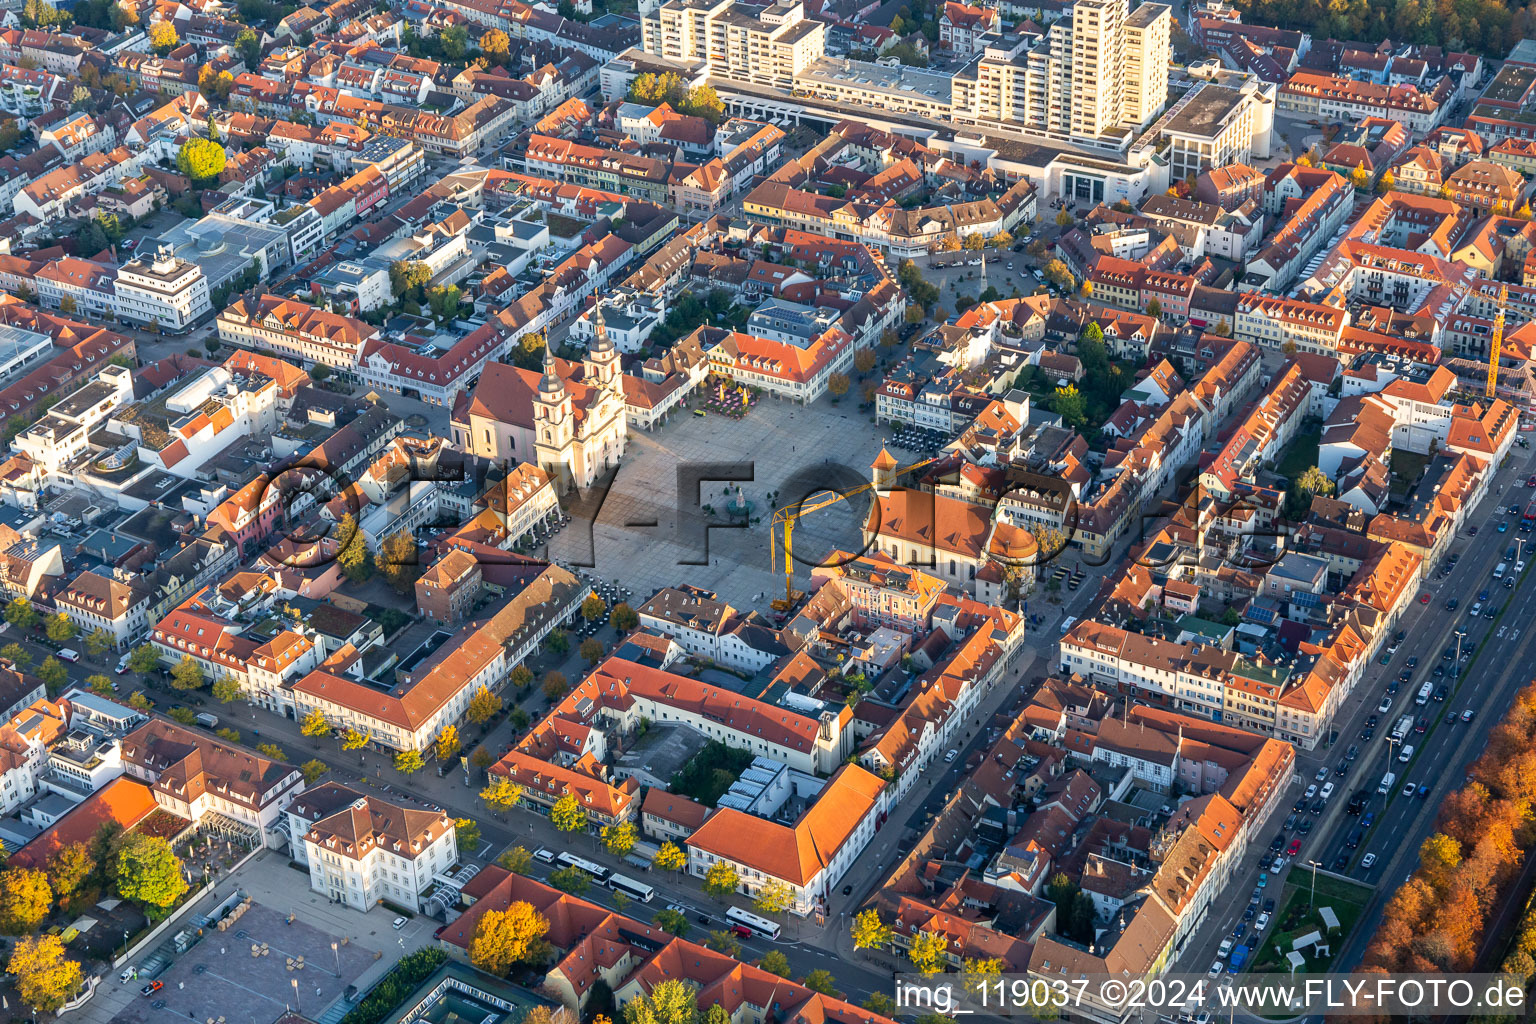
[[[373,950],[339,935],[323,932],[303,920],[287,924],[287,913],[260,903],[227,932],[210,930],[203,941],[177,958],[160,976],[166,984],[154,996],[137,996],[112,1019],[120,1024],[151,1024],[169,1019],[227,1024],[269,1024],[295,1001],[318,1015],[349,984],[375,963]],[[330,944],[338,943],[332,952]],[[252,956],[252,944],[267,944],[266,956]],[[303,970],[290,970],[289,958],[304,958]],[[338,976],[336,966],[341,966]],[[109,984],[117,984],[114,978]],[[143,987],[143,983],[134,983]]]

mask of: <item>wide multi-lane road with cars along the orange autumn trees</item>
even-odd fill
[[[1287,870],[1312,870],[1312,861],[1316,861],[1321,872],[1375,889],[1335,969],[1347,970],[1359,961],[1381,920],[1382,906],[1418,866],[1419,846],[1433,831],[1441,801],[1462,785],[1467,766],[1482,752],[1488,729],[1510,706],[1516,689],[1533,676],[1525,668],[1525,659],[1536,634],[1536,585],[1530,583],[1528,571],[1514,574],[1516,557],[1508,554],[1510,548],[1516,548],[1527,563],[1536,562],[1536,531],[1522,533],[1521,516],[1508,511],[1508,507],[1524,507],[1536,497],[1536,490],[1525,487],[1533,470],[1533,450],[1513,448],[1490,493],[1468,514],[1452,543],[1447,563],[1455,557],[1455,565],[1448,573],[1442,571],[1442,565],[1422,580],[1412,606],[1393,626],[1404,637],[1398,649],[1387,665],[1373,662],[1366,669],[1335,717],[1329,742],[1298,755],[1296,785],[1289,794],[1295,806],[1276,815],[1275,823],[1255,840],[1244,870],[1217,903],[1201,929],[1201,940],[1186,949],[1184,970],[1204,970],[1215,960],[1217,946],[1241,920],[1258,872],[1273,861],[1269,843],[1284,831],[1287,820],[1293,827],[1284,832],[1286,846],[1301,840],[1301,851],[1289,860]],[[1501,522],[1508,524],[1505,533],[1498,531]],[[1471,534],[1473,527],[1476,536]],[[1493,571],[1501,562],[1507,565],[1505,574],[1495,579]],[[1505,585],[1508,579],[1514,580],[1513,586]],[[1481,600],[1484,591],[1487,600]],[[1447,608],[1450,600],[1456,602],[1455,609]],[[1471,616],[1475,605],[1481,605],[1476,617]],[[1493,617],[1487,616],[1490,608]],[[1461,659],[1455,652],[1458,642]],[[1444,657],[1447,648],[1450,659]],[[1416,659],[1412,669],[1410,659]],[[1444,672],[1436,676],[1436,668]],[[1407,682],[1401,682],[1404,669],[1409,669]],[[1432,683],[1435,694],[1444,686],[1444,699],[1432,695],[1425,705],[1418,705],[1418,691],[1425,682]],[[1395,692],[1389,694],[1389,685]],[[1384,697],[1392,699],[1385,711],[1381,709]],[[1464,722],[1462,712],[1468,709],[1473,717]],[[1372,715],[1376,726],[1367,734],[1364,729]],[[1392,729],[1402,715],[1413,715],[1415,729],[1399,743],[1392,740]],[[1416,731],[1421,718],[1424,732]],[[1407,763],[1398,760],[1404,745],[1413,746]],[[1355,748],[1353,758],[1349,757],[1350,748]],[[1341,765],[1342,775],[1338,771]],[[1321,775],[1324,768],[1326,777]],[[1392,772],[1393,781],[1382,795],[1378,789],[1387,772]],[[1319,806],[1327,783],[1333,785],[1333,792]],[[1415,786],[1413,795],[1405,792],[1409,783]],[[1428,788],[1422,797],[1418,795],[1421,785]],[[1318,792],[1303,800],[1309,786]],[[1349,811],[1355,794],[1364,797],[1359,814]],[[1307,834],[1295,827],[1303,820],[1310,820]],[[1364,866],[1367,855],[1372,855],[1370,867]],[[1270,892],[1278,897],[1279,889]]]

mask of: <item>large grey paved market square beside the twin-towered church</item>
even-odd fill
[[[621,577],[634,590],[636,603],[657,586],[690,582],[737,606],[765,608],[783,591],[783,562],[777,573],[770,568],[768,496],[777,491],[786,504],[826,485],[866,484],[888,433],[889,425],[872,424],[871,413],[860,413],[852,399],[833,405],[823,398],[806,408],[771,396],[742,419],[684,415],[656,433],[633,431],[611,488],[607,494],[591,488],[574,504],[571,522],[554,536],[548,556],[568,565],[596,562],[593,571]],[[915,459],[905,451],[894,454],[903,464]],[[743,528],[728,527],[723,513],[736,496],[736,484],[723,473],[733,464],[750,467],[740,488],[757,522]],[[684,494],[679,468],[702,477],[685,481]],[[713,505],[716,514],[705,514],[703,505]],[[834,545],[860,543],[868,508],[866,493],[802,524],[794,534],[797,588],[809,580],[806,562]],[[588,528],[594,510],[596,527]]]

